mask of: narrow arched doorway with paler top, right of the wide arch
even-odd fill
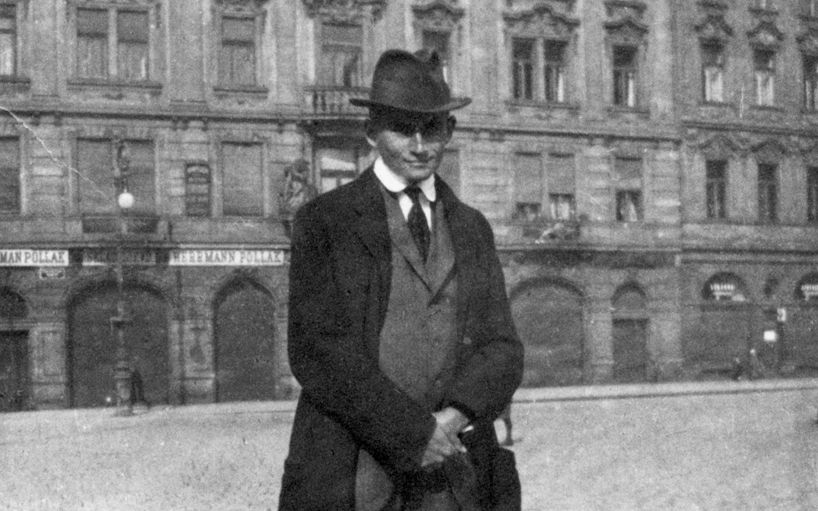
[[[622,285],[613,308],[613,372],[615,383],[648,379],[648,313],[645,294],[636,284]]]

